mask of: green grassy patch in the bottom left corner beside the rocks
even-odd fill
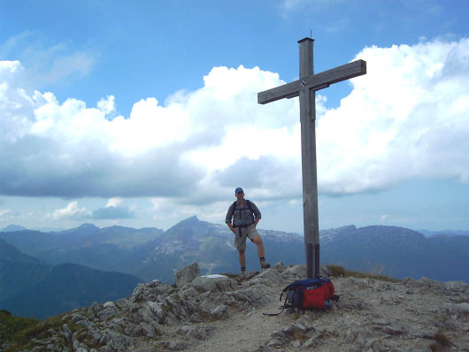
[[[72,333],[81,329],[81,326],[72,321],[63,321],[65,314],[45,320],[35,318],[15,317],[7,310],[0,310],[0,349],[4,352],[16,352],[32,349],[40,345],[40,340],[47,340],[53,334],[62,329],[66,323]],[[57,345],[68,346],[65,338],[55,341]]]

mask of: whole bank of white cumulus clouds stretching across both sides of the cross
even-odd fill
[[[367,74],[341,105],[317,95],[319,191],[381,190],[412,178],[469,180],[469,39],[365,48]],[[259,200],[301,197],[297,99],[259,105],[283,84],[258,67],[214,67],[204,87],[164,104],[136,102],[113,116],[50,92],[28,95],[19,61],[0,62],[0,194],[111,198],[96,216],[128,217],[120,199],[188,205],[225,199],[239,185]],[[320,91],[327,96],[327,89]],[[89,216],[70,203],[57,217]],[[64,215],[62,215],[64,214]]]

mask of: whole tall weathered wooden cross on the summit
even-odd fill
[[[303,218],[304,250],[308,278],[319,277],[319,216],[318,176],[316,167],[316,90],[349,80],[366,73],[366,62],[357,60],[335,67],[323,73],[314,74],[312,66],[311,38],[304,38],[300,44],[300,79],[283,86],[258,93],[258,103],[270,103],[283,98],[300,97],[301,159],[303,171]],[[314,276],[313,276],[314,274]]]

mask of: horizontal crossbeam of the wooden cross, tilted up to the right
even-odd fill
[[[365,73],[366,62],[364,60],[357,60],[350,64],[335,67],[322,73],[311,74],[311,76],[295,80],[283,86],[260,92],[258,93],[258,103],[264,104],[283,98],[293,98],[299,96],[301,89],[309,88],[316,91],[327,88],[330,84],[342,80],[350,80],[350,78],[361,76]]]

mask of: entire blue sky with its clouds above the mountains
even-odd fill
[[[316,94],[319,228],[469,229],[466,1],[0,1],[0,228],[223,223],[303,232],[298,75]]]

